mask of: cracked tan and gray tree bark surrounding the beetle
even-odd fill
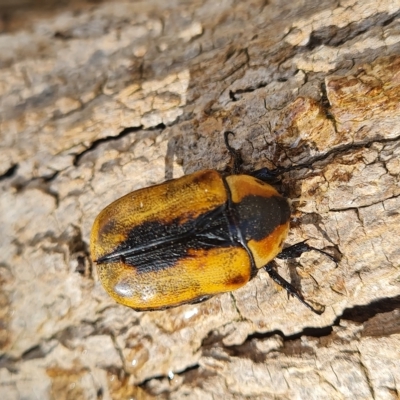
[[[44,3],[0,23],[0,398],[399,399],[400,1]],[[286,245],[339,260],[279,262],[321,316],[263,271],[157,312],[102,288],[96,215],[227,171],[227,130],[287,168]]]

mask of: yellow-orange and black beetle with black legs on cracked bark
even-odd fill
[[[283,250],[290,207],[267,183],[274,171],[240,174],[240,153],[225,144],[233,174],[202,170],[131,192],[94,221],[90,252],[105,290],[137,311],[196,303],[238,289],[264,268],[317,314],[274,268],[273,259],[317,250],[305,242]]]

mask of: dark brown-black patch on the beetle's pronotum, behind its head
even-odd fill
[[[246,196],[240,203],[235,203],[235,208],[239,215],[239,230],[247,240],[265,239],[290,219],[289,204],[281,196]]]

